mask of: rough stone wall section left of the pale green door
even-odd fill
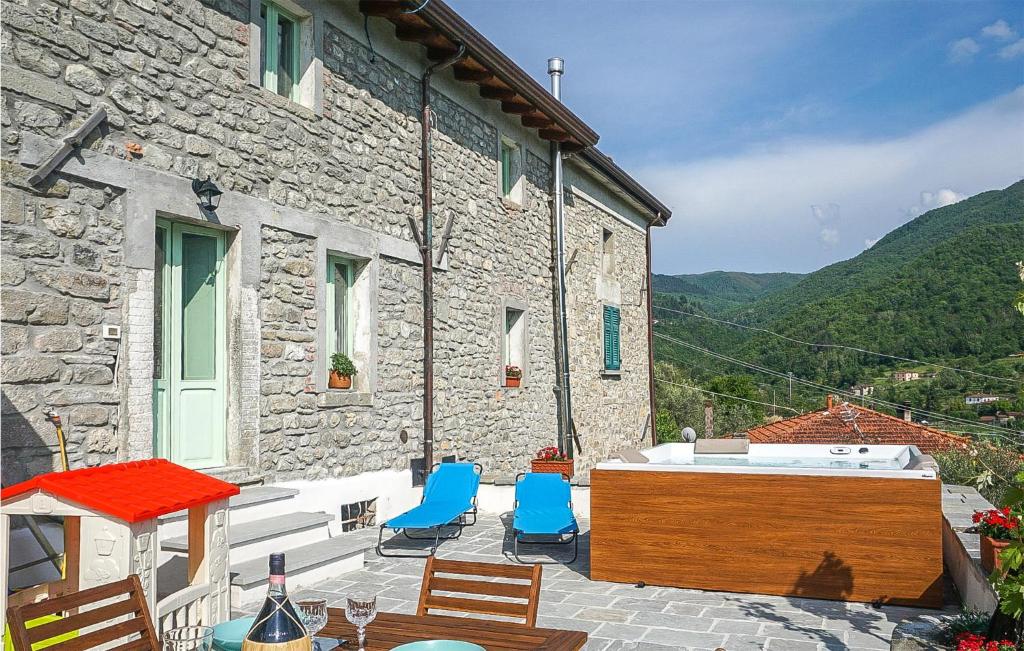
[[[4,165],[5,484],[59,468],[51,409],[62,419],[73,467],[113,461],[121,440],[118,344],[101,332],[121,323],[121,193],[62,179],[36,190],[25,176]]]

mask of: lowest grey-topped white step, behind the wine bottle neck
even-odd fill
[[[364,552],[373,549],[376,544],[375,527],[288,550],[285,560],[288,590],[294,592],[309,588],[361,569]],[[230,572],[232,608],[258,604],[266,596],[266,580],[270,573],[266,558],[231,563]]]

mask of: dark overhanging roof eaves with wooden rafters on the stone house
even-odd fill
[[[586,163],[649,210],[653,224],[663,225],[672,216],[662,202],[595,148],[597,132],[442,0],[359,0],[359,11],[390,20],[395,38],[422,44],[434,61],[453,56],[464,45],[465,56],[453,66],[457,80],[479,86],[481,97],[501,101],[503,112],[519,116],[522,126],[537,129],[542,139],[561,143],[563,151],[584,150]]]

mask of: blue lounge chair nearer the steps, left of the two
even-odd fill
[[[413,540],[429,540],[430,536],[410,535],[410,529],[433,529],[434,545],[426,556],[433,556],[441,539],[451,540],[462,535],[465,526],[476,524],[476,491],[480,487],[480,474],[483,467],[479,464],[435,464],[434,470],[427,477],[427,485],[423,488],[423,498],[420,506],[410,509],[400,516],[391,518],[381,525],[377,536],[377,553],[388,557],[415,558],[423,554],[385,554],[382,549],[384,529],[392,529],[395,533]],[[467,516],[473,516],[469,522]],[[455,535],[441,537],[441,527],[457,526]]]

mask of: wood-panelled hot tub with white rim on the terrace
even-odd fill
[[[941,482],[916,447],[643,455],[591,472],[592,578],[941,606]]]

